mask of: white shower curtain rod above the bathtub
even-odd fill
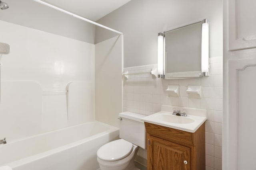
[[[66,11],[66,10],[62,10],[61,8],[58,8],[58,7],[56,7],[56,6],[53,6],[53,5],[51,5],[51,4],[48,4],[48,3],[43,2],[43,1],[41,1],[41,0],[33,0],[33,1],[38,2],[38,3],[40,3],[40,4],[43,4],[43,5],[45,5],[45,6],[48,6],[48,7],[50,7],[50,8],[53,8],[53,9],[55,9],[55,10],[64,12],[64,13],[66,13],[66,14],[68,14],[68,15],[70,15],[70,16],[73,16],[73,17],[75,17],[75,18],[78,18],[78,19],[80,19],[80,20],[84,20],[84,21],[86,21],[86,22],[92,23],[92,24],[97,25],[97,26],[99,26],[99,27],[108,29],[108,30],[113,31],[113,32],[115,32],[115,33],[123,34],[122,32],[116,31],[116,30],[114,30],[114,29],[112,29],[112,28],[110,28],[110,27],[106,27],[106,26],[104,26],[104,25],[101,25],[100,23],[96,23],[96,22],[94,22],[94,21],[88,20],[88,19],[83,18],[83,17],[81,17],[81,16],[78,16],[78,15],[76,15],[76,14],[72,14],[71,12],[68,12],[68,11]]]

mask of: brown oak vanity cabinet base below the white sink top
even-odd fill
[[[205,170],[205,123],[195,133],[144,123],[148,170]]]

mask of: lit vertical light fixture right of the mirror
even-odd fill
[[[202,76],[209,76],[209,20],[202,20]]]

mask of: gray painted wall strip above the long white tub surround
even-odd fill
[[[95,25],[33,0],[4,0],[10,8],[0,10],[0,20],[94,44]]]

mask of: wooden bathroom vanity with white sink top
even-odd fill
[[[186,109],[192,115],[160,111],[142,119],[148,140],[148,170],[205,170],[206,111]]]

